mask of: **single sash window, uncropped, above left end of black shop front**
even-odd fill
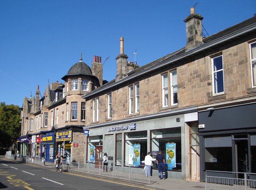
[[[213,95],[224,93],[223,61],[222,55],[212,58]]]

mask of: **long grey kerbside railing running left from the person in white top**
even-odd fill
[[[14,155],[5,155],[8,159],[14,159]],[[23,156],[18,161],[33,163],[43,165],[42,158],[31,158],[30,156]],[[75,172],[87,173],[92,175],[99,175],[104,177],[118,178],[123,180],[141,182],[144,184],[151,184],[155,181],[150,181],[150,177],[146,177],[144,170],[144,165],[134,165],[134,164],[120,164],[109,163],[108,166],[103,166],[102,162],[95,163],[80,163],[71,162],[70,160],[62,161],[63,171],[72,170]]]

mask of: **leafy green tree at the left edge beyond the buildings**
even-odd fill
[[[17,105],[0,103],[0,147],[9,147],[20,136],[20,109]]]

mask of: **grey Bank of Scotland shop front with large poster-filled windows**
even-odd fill
[[[196,117],[190,120],[185,115],[136,122],[131,119],[131,122],[119,125],[91,128],[89,136],[85,136],[87,140],[86,160],[97,164],[97,160],[102,158],[106,152],[109,156],[109,163],[143,167],[148,151],[151,151],[152,157],[155,158],[158,150],[161,150],[166,158],[169,178],[185,179],[185,150],[189,152],[190,142],[190,126],[187,122],[197,122],[197,113],[194,113]],[[187,141],[185,136],[188,136]],[[153,175],[158,175],[156,163],[153,164]]]

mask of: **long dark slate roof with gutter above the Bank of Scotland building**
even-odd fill
[[[227,36],[230,36],[231,38],[233,38],[236,32],[238,33],[237,35],[242,35],[243,32],[244,32],[243,34],[246,35],[245,33],[248,31],[250,31],[250,33],[256,32],[256,16],[249,18],[237,25],[231,26],[225,30],[222,30],[216,34],[213,34],[208,38],[204,38],[203,42],[200,45],[189,49],[187,52],[185,51],[185,47],[183,47],[173,53],[170,53],[155,61],[152,61],[146,65],[143,65],[142,67],[139,67],[135,70],[128,72],[126,77],[120,79],[117,82],[115,81],[115,79],[113,79],[109,83],[106,83],[105,85],[102,85],[99,88],[85,94],[83,98],[89,98],[90,96],[95,96],[98,93],[104,93],[105,91],[108,90],[108,88],[111,88],[111,87],[116,88],[116,86],[120,85],[120,83],[124,81],[127,82],[129,78],[131,78],[132,80],[136,77],[142,76],[143,74],[145,74],[144,72],[148,72],[148,73],[154,72],[155,68],[159,69],[160,67],[165,67],[167,64],[172,64],[176,60],[182,60],[185,58],[189,58],[189,56],[191,57],[193,55],[197,55],[198,53],[200,53],[200,48],[205,48],[201,50],[201,51],[205,51],[208,48],[207,45],[211,43],[213,44],[216,43],[216,45],[218,46],[221,44],[221,40],[225,41],[226,40],[225,38]],[[212,47],[209,47],[209,48],[212,48]]]

